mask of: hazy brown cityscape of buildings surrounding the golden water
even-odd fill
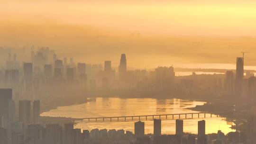
[[[101,64],[74,63],[60,58],[48,47],[31,49],[30,62],[21,62],[9,49],[0,49],[8,59],[0,69],[0,144],[255,144],[256,78],[244,75],[244,57],[237,58],[236,71],[226,74],[175,76],[174,67],[128,70],[126,54],[118,68],[111,61]],[[154,135],[145,135],[144,123],[135,123],[134,135],[124,130],[74,129],[42,123],[40,113],[57,106],[85,101],[94,96],[228,99],[230,105],[250,110],[247,133],[234,132],[216,139],[205,134],[205,121],[198,135],[183,135],[183,121],[176,121],[176,135],[161,134],[161,120],[154,120]],[[224,109],[224,108],[223,108]],[[220,136],[221,135],[221,136]],[[213,136],[214,137],[214,136]],[[215,136],[216,137],[216,136]],[[222,138],[220,138],[222,137]]]

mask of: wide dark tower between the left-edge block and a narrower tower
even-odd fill
[[[20,122],[30,122],[30,100],[19,100],[18,117]]]

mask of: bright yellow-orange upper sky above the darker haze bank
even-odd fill
[[[256,33],[255,0],[7,0],[1,3],[2,20],[48,19],[144,34]]]

